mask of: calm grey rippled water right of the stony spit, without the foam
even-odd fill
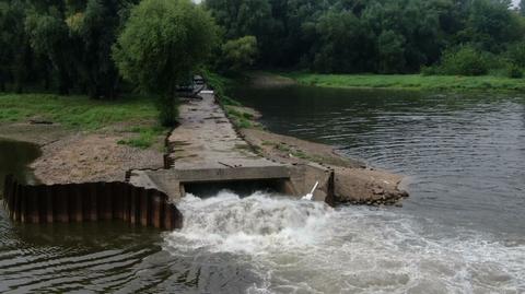
[[[409,175],[404,212],[525,234],[525,96],[243,87],[272,131]],[[397,209],[396,209],[397,210]]]

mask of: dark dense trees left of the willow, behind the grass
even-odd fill
[[[0,0],[0,87],[114,97],[112,46],[138,0]]]

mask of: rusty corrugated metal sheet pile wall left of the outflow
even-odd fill
[[[22,223],[69,223],[122,220],[132,225],[175,230],[183,215],[168,197],[128,183],[22,185],[5,177],[4,204]]]

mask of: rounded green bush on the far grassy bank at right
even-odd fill
[[[445,50],[440,73],[459,75],[483,75],[489,68],[498,63],[488,52],[479,51],[470,46]]]

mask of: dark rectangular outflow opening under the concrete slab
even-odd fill
[[[229,180],[185,183],[184,191],[199,198],[217,196],[222,190],[229,190],[241,198],[248,197],[257,191],[267,193],[285,193],[288,179],[258,179],[258,180]]]

